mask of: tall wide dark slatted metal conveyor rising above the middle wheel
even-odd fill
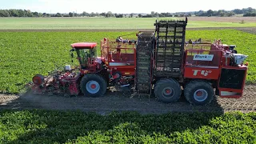
[[[157,33],[156,77],[181,77],[186,23],[187,21],[159,21],[154,24]]]

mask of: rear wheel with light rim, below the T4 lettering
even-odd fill
[[[214,99],[214,88],[209,82],[194,80],[186,85],[184,96],[192,105],[207,105]]]

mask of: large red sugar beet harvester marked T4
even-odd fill
[[[185,42],[186,24],[187,19],[156,21],[155,31],[138,32],[136,41],[102,39],[100,50],[95,42],[74,43],[71,56],[77,54],[80,66],[35,75],[32,91],[101,97],[115,86],[169,103],[177,102],[183,89],[186,100],[195,105],[210,103],[215,94],[242,97],[247,56],[220,40]]]

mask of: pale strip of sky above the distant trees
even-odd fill
[[[108,12],[119,14],[151,11],[187,12],[198,10],[234,10],[252,7],[256,0],[0,0],[0,9],[22,9],[41,13]]]

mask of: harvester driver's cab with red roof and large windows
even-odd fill
[[[76,51],[77,59],[82,70],[88,70],[92,67],[94,58],[97,58],[96,46],[97,43],[94,42],[78,42],[71,44],[72,49],[70,52]],[[73,53],[71,53],[71,57],[74,57]]]

